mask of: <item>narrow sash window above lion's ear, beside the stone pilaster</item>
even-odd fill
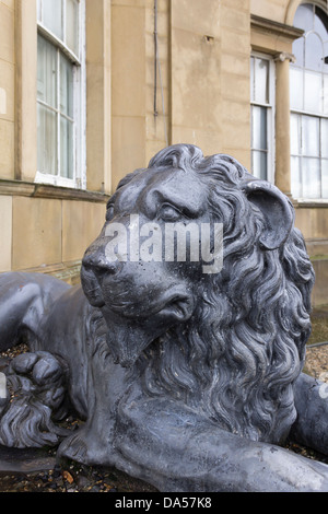
[[[274,65],[266,56],[250,57],[251,170],[273,182]]]

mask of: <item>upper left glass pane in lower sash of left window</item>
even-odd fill
[[[57,50],[44,37],[37,42],[37,97],[51,107],[57,103]]]

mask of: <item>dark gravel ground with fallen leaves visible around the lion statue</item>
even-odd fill
[[[313,317],[313,335],[309,344],[328,341],[328,315],[319,312]],[[0,354],[1,366],[8,359],[26,351],[24,346]],[[328,382],[328,344],[309,347],[305,371],[316,378]],[[68,423],[75,422],[68,419]],[[309,458],[328,464],[328,457],[314,451],[290,443],[288,447]],[[156,492],[151,486],[127,475],[102,467],[82,466],[73,462],[56,460],[56,451],[9,451],[0,446],[0,493],[1,492]]]

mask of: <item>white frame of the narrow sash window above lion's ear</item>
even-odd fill
[[[253,170],[253,155],[255,151],[259,151],[259,149],[254,147],[253,140],[253,107],[262,107],[266,108],[267,112],[267,180],[271,184],[274,184],[274,172],[276,172],[276,130],[274,130],[274,118],[276,118],[276,63],[274,59],[269,54],[261,54],[258,51],[253,51],[250,54],[250,61],[251,59],[263,59],[267,60],[269,63],[269,102],[262,103],[257,102],[254,100],[253,89],[256,79],[254,82],[250,82],[250,157],[251,157],[251,171]],[[250,72],[251,79],[251,72]]]

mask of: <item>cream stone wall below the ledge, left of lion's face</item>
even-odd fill
[[[98,201],[0,196],[0,272],[49,272],[74,283],[105,212]]]

